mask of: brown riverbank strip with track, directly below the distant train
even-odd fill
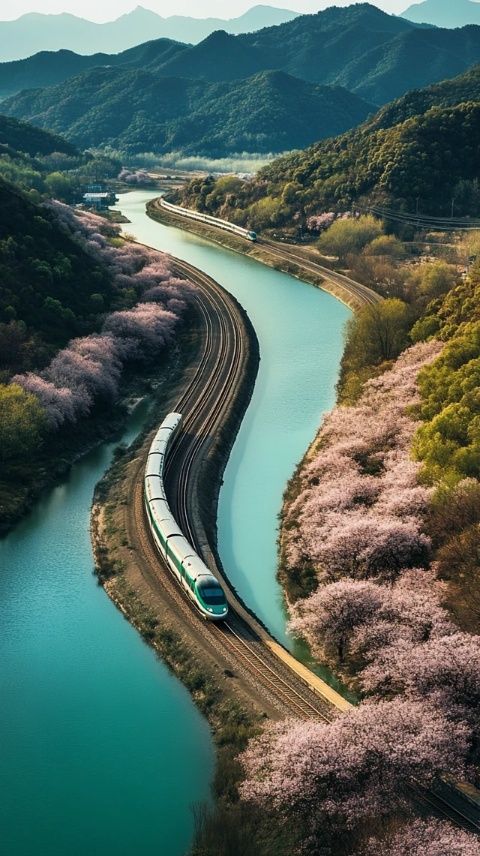
[[[274,242],[250,242],[244,238],[239,238],[229,232],[223,232],[221,229],[216,229],[207,224],[201,223],[198,220],[189,220],[186,217],[179,217],[166,211],[158,204],[157,199],[151,200],[147,204],[147,214],[152,220],[162,223],[165,226],[175,226],[181,228],[193,235],[198,235],[207,241],[218,244],[220,247],[240,253],[243,256],[248,256],[267,267],[278,270],[280,273],[286,273],[289,276],[300,279],[302,282],[307,282],[314,285],[316,288],[326,291],[331,294],[349,309],[356,311],[365,304],[364,293],[370,292],[365,286],[359,285],[361,293],[355,293],[355,283],[341,282],[341,275],[333,270],[332,278],[329,278],[327,267],[329,260],[321,256],[314,248],[295,245],[290,247],[288,244],[278,245],[278,250]],[[290,252],[294,250],[293,252]],[[324,270],[316,271],[314,266],[321,265]],[[337,278],[339,277],[339,278]],[[353,287],[352,287],[353,286]],[[380,299],[374,292],[370,292],[368,296],[369,302],[375,299]]]

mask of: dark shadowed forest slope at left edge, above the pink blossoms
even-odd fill
[[[44,207],[0,178],[0,378],[95,328],[112,285]]]

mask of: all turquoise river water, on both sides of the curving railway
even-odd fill
[[[277,516],[296,462],[331,407],[349,311],[240,255],[153,223],[124,195],[126,229],[220,281],[247,309],[261,368],[220,496],[232,582],[285,644]],[[132,414],[131,442],[148,411]],[[89,513],[115,444],[78,462],[0,542],[0,852],[182,856],[206,799],[206,722],[93,577]]]

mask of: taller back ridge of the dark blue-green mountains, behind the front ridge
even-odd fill
[[[0,95],[60,83],[92,66],[128,66],[158,77],[209,82],[279,70],[310,83],[343,86],[381,105],[409,89],[460,74],[479,61],[479,27],[422,27],[360,3],[239,36],[216,31],[198,45],[160,39],[117,55],[40,53],[0,64]],[[79,97],[83,86],[82,78],[77,78],[74,88]],[[5,109],[21,115],[15,104]],[[33,109],[32,114],[38,112]]]

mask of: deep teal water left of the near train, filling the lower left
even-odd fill
[[[183,856],[208,798],[207,723],[93,576],[90,506],[115,445],[0,541],[5,856]]]

